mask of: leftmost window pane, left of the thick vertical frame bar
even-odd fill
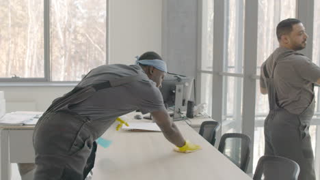
[[[0,78],[44,78],[43,0],[0,1]]]

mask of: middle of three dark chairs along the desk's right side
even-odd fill
[[[246,172],[250,161],[250,144],[250,137],[245,134],[226,133],[221,137],[218,150]]]

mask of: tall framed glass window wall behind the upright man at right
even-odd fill
[[[250,171],[255,169],[256,163],[264,154],[265,149],[263,126],[269,112],[269,102],[267,95],[260,93],[258,79],[261,73],[261,64],[279,46],[276,26],[286,18],[297,18],[296,14],[302,20],[307,21],[303,23],[307,27],[306,31],[309,32],[309,35],[311,31],[308,30],[308,27],[313,27],[313,34],[308,40],[309,47],[311,47],[310,43],[313,45],[312,55],[308,56],[312,58],[313,62],[320,65],[320,1],[311,0],[301,3],[297,0],[258,0],[250,1],[248,4],[245,3],[248,2],[245,0],[212,1],[215,3],[213,18],[211,14],[204,13],[206,17],[203,20],[207,22],[207,19],[213,19],[215,28],[211,31],[213,25],[209,28],[208,23],[202,24],[204,28],[202,33],[206,31],[206,36],[202,35],[202,59],[199,62],[200,66],[198,66],[200,69],[198,74],[201,78],[200,100],[209,103],[209,115],[222,123],[221,131],[217,134],[218,139],[226,132],[241,132],[254,138],[253,162],[249,164],[248,168]],[[208,11],[207,7],[204,6],[204,12]],[[312,10],[312,8],[315,9]],[[305,20],[305,18],[310,18],[312,14],[313,22]],[[248,19],[245,20],[243,17]],[[250,22],[250,20],[254,20],[254,22]],[[208,44],[209,37],[213,38],[213,45]],[[256,44],[252,44],[250,37],[254,38],[253,42]],[[209,39],[209,42],[212,40]],[[211,48],[213,51],[210,50]],[[213,61],[211,61],[211,56]],[[249,93],[252,95],[248,95]],[[315,117],[313,117],[310,127],[310,135],[312,148],[315,152],[315,170],[317,177],[319,177],[319,87],[315,87],[315,95],[317,104]],[[250,97],[255,98],[255,107],[248,104]],[[253,100],[252,103],[254,103]]]

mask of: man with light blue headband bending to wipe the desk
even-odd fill
[[[161,57],[146,52],[137,65],[96,67],[75,89],[54,100],[34,130],[34,180],[85,178],[94,140],[117,117],[138,109],[151,113],[177,151],[200,149],[183,138],[165,109],[159,87],[166,72]]]

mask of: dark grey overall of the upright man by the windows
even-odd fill
[[[275,67],[276,64],[274,69]],[[266,67],[263,69],[270,109],[265,119],[265,155],[287,157],[299,164],[299,180],[315,180],[314,157],[309,134],[310,121],[315,110],[315,97],[299,115],[278,106],[274,69],[271,71],[271,77],[267,74]]]

